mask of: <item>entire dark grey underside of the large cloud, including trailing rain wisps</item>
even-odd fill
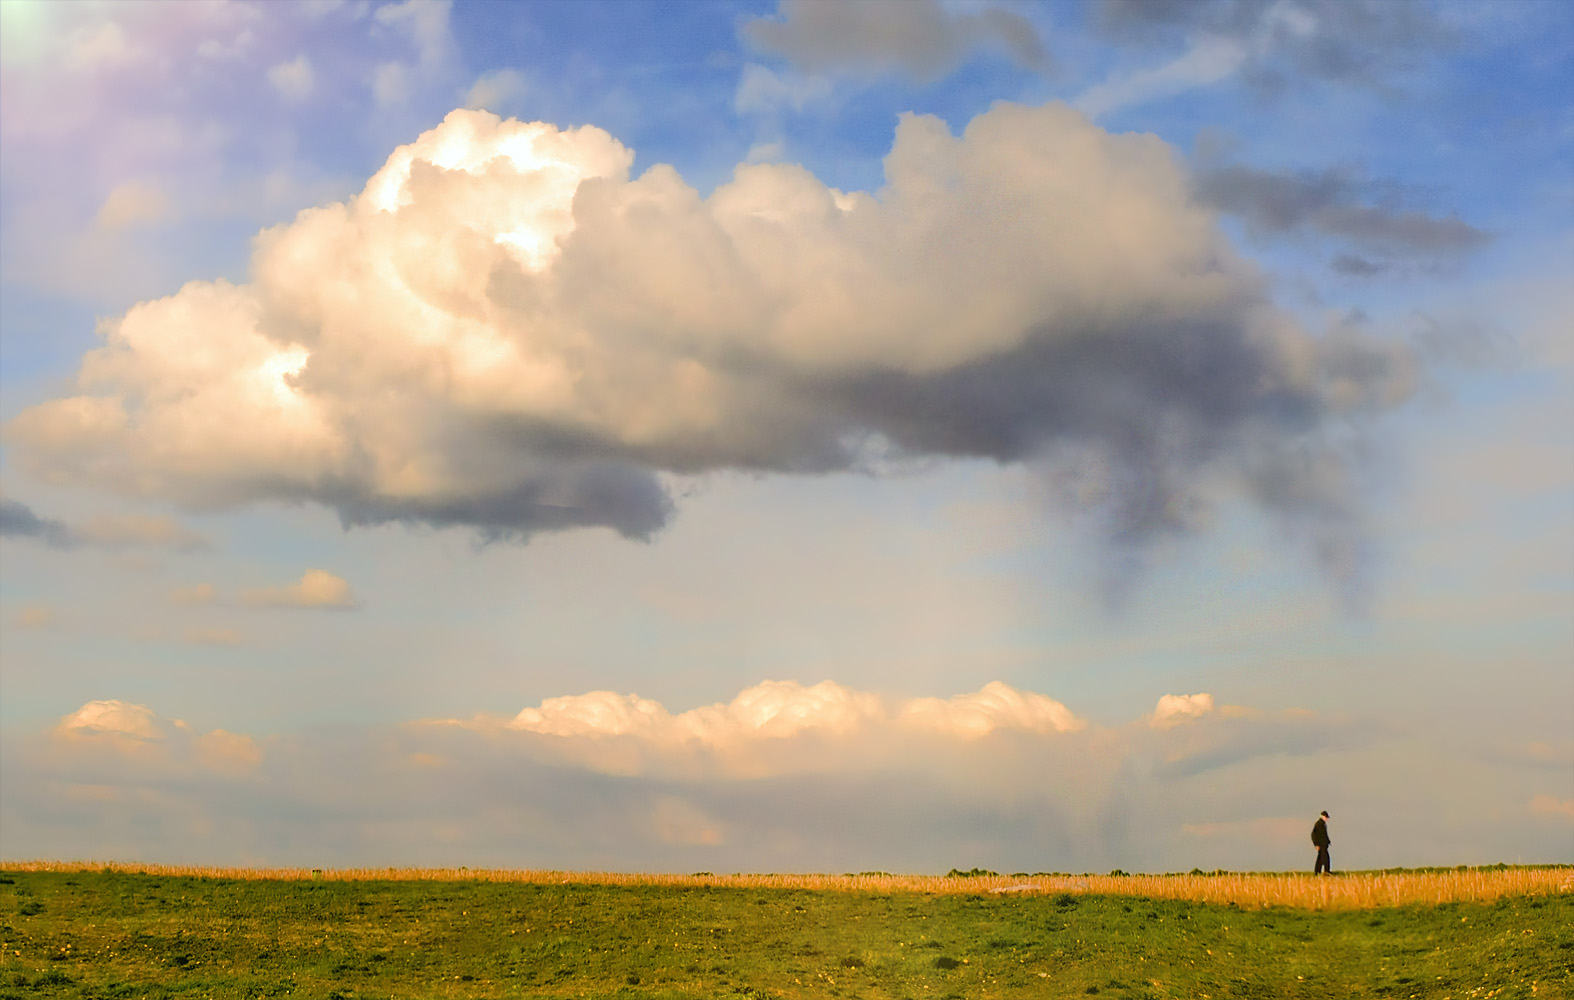
[[[1292,386],[1283,361],[1247,334],[1247,307],[1133,329],[1044,331],[1017,350],[929,375],[806,376],[743,359],[737,375],[752,391],[740,420],[751,431],[726,441],[634,449],[584,430],[493,424],[455,435],[455,450],[485,435],[478,454],[496,457],[502,444],[521,468],[548,458],[551,469],[447,502],[348,483],[315,499],[346,524],[472,526],[488,540],[606,526],[650,539],[675,512],[661,472],[866,471],[874,438],[910,458],[1045,461],[1110,542],[1111,597],[1140,575],[1152,542],[1199,523],[1217,476],[1294,524],[1330,576],[1352,586],[1366,550],[1362,502],[1350,458],[1327,433],[1324,383],[1390,398],[1404,365],[1358,339],[1330,339],[1317,348],[1321,378]]]

